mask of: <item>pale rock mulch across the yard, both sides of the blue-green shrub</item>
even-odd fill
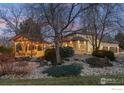
[[[103,67],[103,68],[92,68],[85,62],[84,57],[74,56],[69,58],[69,60],[65,60],[62,65],[70,65],[73,63],[80,64],[83,69],[81,70],[81,76],[99,76],[99,75],[124,75],[124,64],[120,64],[119,62],[111,62],[113,64],[112,67]],[[32,64],[32,63],[31,63]],[[15,76],[15,75],[5,75],[0,77],[0,79],[45,79],[45,78],[53,78],[52,76],[48,76],[47,74],[43,74],[42,72],[49,68],[49,66],[42,66],[35,68],[30,74],[25,76]]]

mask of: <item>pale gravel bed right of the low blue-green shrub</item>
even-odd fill
[[[83,66],[80,75],[81,76],[99,76],[99,75],[124,75],[124,62],[111,62],[113,64],[112,67],[103,67],[103,68],[92,68],[89,64],[86,63],[85,59],[91,57],[90,55],[74,56],[69,58],[69,61],[65,61],[64,65],[69,65],[72,63],[79,63]],[[78,60],[75,60],[78,59]]]

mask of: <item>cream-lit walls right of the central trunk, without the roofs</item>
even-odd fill
[[[80,46],[81,45],[81,46]],[[75,54],[91,54],[93,52],[92,45],[88,41],[70,41],[70,42],[64,42],[63,46],[70,46],[73,47]],[[119,54],[119,46],[118,44],[113,43],[101,43],[100,50],[103,50],[103,47],[107,47],[108,50],[111,50],[110,48],[116,48],[117,51],[113,51],[115,54]]]

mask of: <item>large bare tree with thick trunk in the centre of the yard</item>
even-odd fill
[[[46,26],[52,31],[56,51],[57,63],[61,63],[60,50],[62,34],[79,16],[81,11],[88,9],[92,4],[39,4],[33,9],[43,15]]]

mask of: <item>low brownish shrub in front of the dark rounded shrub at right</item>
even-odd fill
[[[88,58],[86,59],[86,62],[91,66],[91,67],[106,67],[106,66],[113,66],[108,60],[103,59],[103,58]]]

